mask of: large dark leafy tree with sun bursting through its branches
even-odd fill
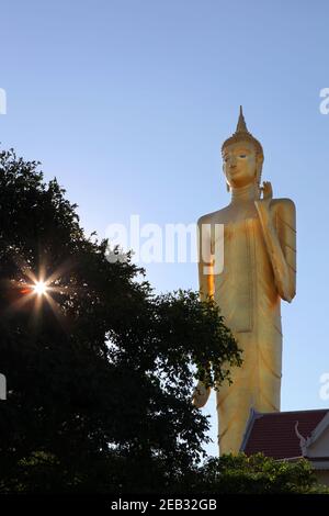
[[[129,254],[109,262],[76,207],[37,162],[0,153],[0,490],[184,489],[208,429],[195,369],[220,383],[237,343],[212,301],[155,295]]]

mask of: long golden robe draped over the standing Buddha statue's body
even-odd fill
[[[243,351],[242,366],[231,370],[232,384],[226,381],[216,392],[218,444],[223,455],[239,451],[251,408],[280,411],[282,327],[281,292],[264,239],[266,228],[262,227],[259,214],[254,210],[250,217],[227,221],[217,213],[219,216],[214,213],[204,221],[212,226],[224,224],[224,267],[211,279],[213,295],[225,324]],[[292,201],[272,200],[271,217],[294,281],[296,232]],[[213,236],[215,253],[216,244]]]

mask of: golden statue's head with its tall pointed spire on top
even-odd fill
[[[227,189],[238,189],[254,183],[260,187],[263,148],[247,130],[242,106],[236,132],[222,146],[223,171]]]

